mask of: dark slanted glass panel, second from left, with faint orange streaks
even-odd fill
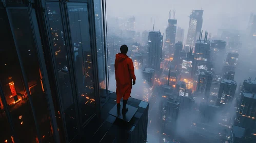
[[[43,142],[51,142],[53,139],[53,131],[50,122],[50,116],[48,112],[48,103],[46,94],[44,92],[44,83],[41,74],[40,65],[38,62],[36,44],[33,39],[32,28],[30,27],[29,13],[27,9],[10,9],[9,18],[14,32],[14,40],[16,41],[16,48],[21,55],[23,68],[25,71],[25,76],[27,78],[27,84],[29,88],[29,93],[20,92],[18,96],[21,98],[27,97],[30,95],[33,103],[33,108],[35,111],[35,120],[37,121],[40,135]],[[35,18],[35,17],[31,17]],[[41,45],[41,43],[38,43]],[[15,95],[15,86],[16,83],[10,82],[10,90],[12,95]],[[14,85],[13,85],[14,84]],[[17,101],[16,101],[17,100]],[[19,99],[14,98],[14,102],[18,102]],[[22,116],[22,115],[20,115]],[[21,123],[22,124],[22,123]],[[30,124],[29,122],[24,121],[24,125]]]

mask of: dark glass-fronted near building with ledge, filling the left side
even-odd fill
[[[26,2],[0,2],[0,142],[147,140],[148,103],[130,98],[132,116],[109,114],[102,1]]]

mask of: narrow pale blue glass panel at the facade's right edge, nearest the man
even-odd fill
[[[100,89],[106,89],[105,50],[103,35],[102,1],[94,1],[97,66]]]

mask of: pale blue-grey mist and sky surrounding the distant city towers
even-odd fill
[[[106,1],[107,10],[107,25],[108,27],[116,27],[115,18],[120,21],[126,21],[126,19],[135,17],[136,33],[140,34],[144,31],[160,31],[163,37],[165,37],[166,28],[168,25],[169,11],[171,10],[171,19],[177,19],[178,27],[184,29],[183,46],[186,43],[186,38],[189,28],[189,16],[192,10],[204,10],[203,12],[203,26],[202,30],[207,30],[211,33],[211,40],[224,40],[227,42],[227,46],[222,53],[219,53],[220,57],[213,62],[213,74],[223,76],[223,65],[225,64],[225,58],[227,53],[238,53],[238,62],[235,65],[235,74],[233,81],[237,82],[237,90],[235,90],[235,98],[231,103],[225,106],[216,106],[214,103],[207,103],[200,98],[195,98],[194,106],[191,109],[180,109],[179,116],[176,118],[175,124],[171,124],[169,130],[163,129],[164,123],[162,122],[162,113],[164,111],[164,103],[168,98],[174,98],[173,90],[170,91],[171,96],[165,96],[162,90],[162,85],[154,85],[153,92],[147,97],[144,97],[143,92],[143,75],[142,70],[135,70],[136,84],[132,87],[131,97],[139,100],[149,102],[149,117],[148,117],[148,135],[147,140],[149,143],[153,142],[165,142],[166,138],[176,139],[179,142],[225,142],[229,138],[229,134],[232,126],[234,125],[234,118],[238,106],[238,100],[240,94],[240,86],[248,77],[256,77],[256,42],[255,39],[250,39],[248,36],[249,18],[250,14],[256,14],[256,1],[255,0],[108,0]],[[118,28],[115,28],[115,30]],[[121,30],[120,30],[121,29]],[[120,28],[120,31],[127,29]],[[233,32],[238,39],[229,39],[230,37],[222,37],[220,31],[228,30]],[[146,42],[131,38],[127,40],[127,37],[120,34],[122,32],[112,31],[111,28],[108,32],[119,37],[122,40],[109,40],[110,45],[113,46],[113,53],[117,53],[115,49],[122,44],[127,44],[128,47],[133,42],[141,42],[141,53],[147,54],[148,37],[146,36]],[[131,30],[130,30],[131,31]],[[133,35],[134,36],[134,35]],[[204,37],[204,35],[203,35]],[[141,38],[142,34],[141,34]],[[110,39],[110,38],[109,38]],[[133,41],[129,41],[133,40]],[[120,43],[120,42],[124,43]],[[144,43],[143,43],[144,42]],[[151,42],[151,41],[150,41]],[[163,43],[165,42],[165,38]],[[231,47],[231,43],[241,43],[239,49],[234,50]],[[116,47],[115,47],[116,46]],[[163,47],[164,51],[164,47]],[[138,51],[137,51],[138,52]],[[211,50],[212,52],[212,50]],[[132,53],[131,50],[128,53]],[[112,55],[114,55],[112,54]],[[113,57],[113,56],[112,56]],[[132,57],[132,56],[131,56]],[[143,62],[147,62],[144,58]],[[149,57],[150,58],[150,57]],[[166,57],[165,57],[166,58]],[[169,57],[168,57],[169,58]],[[165,62],[164,58],[163,63]],[[145,65],[143,64],[143,68]],[[143,69],[142,68],[142,69]],[[163,72],[162,72],[163,74]],[[161,75],[163,76],[163,75]],[[160,76],[160,79],[162,78]],[[254,80],[254,78],[252,78]],[[255,78],[256,79],[256,78]],[[181,80],[177,78],[176,80]],[[115,78],[114,75],[110,76],[110,90],[115,91]],[[197,81],[197,80],[196,80]],[[162,81],[161,81],[162,82]],[[147,85],[148,86],[148,85]],[[174,86],[175,87],[175,86]],[[219,89],[218,89],[219,90]],[[194,90],[195,92],[195,90]],[[192,92],[193,93],[193,92]],[[194,97],[193,97],[194,98]],[[153,99],[153,100],[150,100]],[[177,98],[178,99],[178,98]],[[218,139],[216,139],[218,138]],[[164,140],[163,140],[164,139]]]

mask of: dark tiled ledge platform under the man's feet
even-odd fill
[[[124,121],[122,117],[117,116],[115,92],[106,90],[101,92],[100,101],[101,118],[94,116],[84,126],[83,131],[87,136],[83,138],[84,142],[138,142],[138,140],[142,143],[146,142],[149,106],[147,102],[129,98],[126,105],[129,108],[126,118],[129,117],[130,119]],[[122,102],[121,100],[121,110]],[[112,109],[113,113],[111,112]]]

